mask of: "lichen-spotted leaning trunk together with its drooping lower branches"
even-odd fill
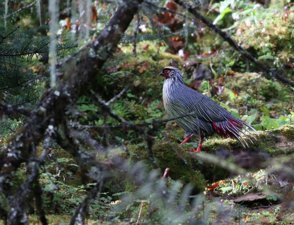
[[[11,201],[10,209],[7,210],[9,212],[8,224],[19,224],[20,221],[27,222],[26,207],[22,203],[28,197],[27,194],[31,192],[30,187],[33,184],[37,184],[39,168],[44,162],[45,157],[42,154],[42,158],[39,160],[35,159],[36,146],[38,146],[41,140],[47,139],[50,134],[55,134],[61,125],[63,125],[64,136],[55,135],[57,143],[76,158],[81,166],[81,170],[83,170],[81,171],[82,175],[88,177],[89,174],[87,172],[91,168],[93,170],[90,174],[91,179],[97,180],[97,183],[102,185],[103,168],[96,162],[93,156],[84,151],[79,151],[76,140],[71,137],[69,128],[65,125],[67,122],[66,112],[70,108],[69,106],[76,105],[76,100],[81,95],[91,93],[92,86],[99,79],[97,77],[98,71],[109,56],[116,51],[117,44],[142,1],[121,1],[120,6],[95,41],[89,43],[74,54],[74,56],[59,64],[59,68],[62,67],[64,70],[64,75],[58,86],[47,89],[31,113],[21,107],[17,108],[6,104],[0,105],[4,109],[1,112],[4,111],[5,114],[21,113],[29,116],[26,124],[19,129],[16,135],[0,151],[0,191],[2,193],[4,193],[3,190],[6,191],[5,185],[9,183],[13,171],[18,169],[21,163],[27,162],[31,169],[28,179],[19,186],[13,196],[13,201]],[[95,171],[98,174],[96,174],[97,178],[93,177],[96,176]],[[38,188],[34,190],[35,195],[38,191],[40,191]],[[86,200],[95,197],[96,193],[97,191],[90,192]],[[7,193],[7,196],[9,195],[11,194]],[[38,206],[42,205],[41,199],[35,200]],[[86,200],[81,204],[80,209],[85,209],[88,204]],[[46,224],[42,209],[39,215],[42,223]]]

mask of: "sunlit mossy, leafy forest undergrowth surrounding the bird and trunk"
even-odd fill
[[[190,14],[181,15],[186,15],[188,9],[178,8],[170,1],[154,2],[169,11],[162,11],[155,3],[143,3],[119,48],[97,74],[99,79],[91,93],[77,99],[76,109],[69,107],[67,111],[68,125],[77,130],[70,136],[76,138],[81,149],[95,157],[101,171],[94,171],[91,166],[81,168],[74,155],[57,143],[50,143],[46,160],[39,168],[38,182],[48,224],[68,223],[69,215],[99,182],[99,193],[87,208],[88,224],[97,221],[103,224],[292,224],[293,87],[260,71],[257,64],[240,55],[201,21],[189,19]],[[224,0],[211,7],[197,7],[256,59],[293,80],[294,6],[293,1],[283,2],[270,1],[264,6],[252,1]],[[93,8],[97,18],[92,21],[91,37],[102,31],[116,4],[95,1]],[[20,19],[23,32],[29,32],[26,20],[34,22],[31,17]],[[63,22],[66,20],[60,24]],[[68,26],[59,28],[61,42],[73,39]],[[39,31],[34,32],[40,35]],[[0,34],[3,39],[5,35]],[[22,45],[27,43],[19,41]],[[76,41],[82,48],[88,40]],[[9,44],[8,41],[6,45]],[[74,47],[77,45],[71,43],[63,50]],[[3,53],[1,41],[0,48]],[[21,57],[28,55],[22,53]],[[27,61],[21,59],[17,70],[24,72],[22,75],[19,71],[10,75],[32,79],[33,88],[27,89],[22,80],[17,93],[8,89],[13,84],[5,85],[6,89],[1,86],[0,95],[5,96],[1,101],[27,105],[20,96],[31,94],[34,100],[29,101],[29,107],[34,107],[36,99],[46,94],[48,74],[36,80],[31,77],[49,69],[48,64],[43,65],[35,57],[40,57],[39,54],[34,53]],[[66,57],[58,56],[59,61],[63,58]],[[5,60],[9,64],[8,58]],[[232,115],[260,130],[255,135],[257,141],[243,149],[238,141],[221,140],[215,135],[203,143],[203,153],[185,151],[198,146],[198,136],[194,135],[189,143],[181,146],[184,131],[177,124],[156,122],[168,119],[162,102],[163,77],[158,75],[167,65],[181,70],[187,86],[211,97]],[[210,71],[212,79],[194,79],[204,74],[199,65]],[[4,70],[10,69],[0,71],[0,80],[7,80]],[[62,80],[62,76],[61,72],[58,79]],[[128,121],[129,126],[110,116],[99,99],[107,103],[113,115]],[[1,117],[1,146],[9,143],[28,118],[26,115]],[[130,124],[135,124],[136,129]],[[61,132],[62,125],[58,126],[60,136],[68,138]],[[139,135],[138,129],[142,127],[144,132]],[[45,141],[36,146],[36,156],[42,155]],[[0,193],[0,211],[9,209],[9,198],[28,179],[28,165],[22,163],[14,171],[9,182],[11,194]],[[87,177],[83,176],[84,170]],[[251,199],[240,198],[249,194]],[[34,196],[28,196],[29,221],[36,224],[37,203]]]

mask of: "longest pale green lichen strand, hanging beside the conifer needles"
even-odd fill
[[[54,87],[56,84],[56,49],[55,49],[55,35],[57,33],[57,23],[59,19],[59,0],[49,1],[49,15],[50,15],[50,35],[52,36],[49,45],[49,62],[50,62],[50,86]]]

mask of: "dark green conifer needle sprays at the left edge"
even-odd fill
[[[31,39],[21,32],[20,26],[0,26],[0,101],[26,107],[34,105],[41,94],[37,87],[46,78],[37,79],[39,74],[24,68],[23,62],[47,54],[51,38]],[[59,36],[54,41],[57,54],[78,46],[60,43]]]

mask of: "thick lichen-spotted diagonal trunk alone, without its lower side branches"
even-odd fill
[[[48,89],[44,93],[26,125],[1,148],[0,176],[9,175],[22,162],[26,162],[31,154],[32,144],[39,143],[46,129],[54,129],[58,124],[62,124],[65,121],[67,106],[76,102],[81,95],[89,93],[92,85],[97,83],[97,71],[116,51],[117,44],[142,1],[122,1],[96,40],[81,49],[75,55],[78,58],[71,57],[63,64],[65,74],[57,88]]]

